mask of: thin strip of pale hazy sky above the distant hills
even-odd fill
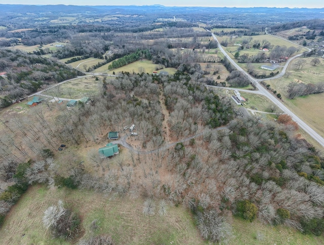
[[[277,8],[324,8],[322,0],[0,0],[0,4],[28,4],[28,5],[153,5],[164,6],[201,6],[201,7],[277,7]]]

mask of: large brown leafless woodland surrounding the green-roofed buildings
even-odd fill
[[[280,124],[260,123],[259,118],[231,120],[232,108],[225,98],[206,90],[195,74],[186,78],[176,74],[158,84],[151,75],[126,73],[104,81],[95,101],[79,110],[63,109],[59,117],[45,118],[37,108],[33,127],[20,116],[13,117],[5,124],[8,132],[1,135],[3,180],[15,181],[18,163],[36,154],[45,160],[24,168],[28,184],[143,195],[148,198],[143,205],[146,215],[163,215],[168,205],[182,204],[195,214],[201,235],[213,241],[229,237],[227,209],[250,221],[258,218],[311,232],[310,224],[320,224],[324,211],[323,162],[314,148],[295,136],[296,128],[287,120]],[[130,150],[113,160],[89,153],[89,163],[103,176],[85,169],[77,156],[66,159],[71,164],[64,170],[52,158],[44,158],[59,142],[95,144],[107,129],[119,131],[132,122],[141,132],[144,151],[164,146],[160,86],[170,113],[171,137],[200,136],[151,153]],[[213,130],[226,124],[227,129]],[[16,196],[3,193],[5,214]]]

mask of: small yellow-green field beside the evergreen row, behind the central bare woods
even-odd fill
[[[140,69],[144,68],[145,73],[150,74],[150,73],[155,72],[155,67],[157,66],[157,64],[152,63],[151,60],[145,60],[145,59],[132,62],[128,65],[123,66],[123,67],[111,69],[110,71],[108,71],[108,65],[109,65],[109,63],[95,69],[93,72],[94,73],[107,73],[110,75],[113,74],[113,72],[115,72],[115,74],[118,74],[119,72],[138,73],[140,71]],[[170,75],[173,75],[177,71],[177,69],[164,68],[164,69],[157,71],[157,73],[159,73],[161,71],[165,71],[165,72],[168,72]]]

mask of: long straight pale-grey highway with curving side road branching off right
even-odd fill
[[[211,32],[211,31],[210,31]],[[290,115],[292,117],[292,119],[298,123],[299,127],[301,129],[303,129],[306,133],[308,133],[313,139],[315,139],[315,141],[317,141],[322,147],[324,147],[324,138],[322,136],[320,136],[317,132],[315,132],[315,130],[313,130],[310,126],[308,126],[303,120],[301,120],[296,114],[294,114],[291,110],[289,110],[277,97],[275,97],[272,93],[270,93],[267,89],[265,89],[261,84],[259,84],[258,81],[262,81],[265,79],[260,79],[260,80],[256,80],[253,77],[251,77],[247,72],[244,71],[244,69],[242,69],[240,66],[238,66],[234,60],[232,60],[232,58],[225,52],[225,50],[222,48],[222,46],[220,45],[220,43],[218,42],[216,36],[214,33],[212,33],[212,37],[214,38],[214,40],[217,42],[217,46],[219,48],[219,50],[225,55],[225,57],[232,63],[232,65],[240,72],[244,73],[249,80],[259,89],[260,94],[266,96],[268,99],[270,99],[278,108],[280,108],[284,113]],[[290,58],[287,61],[287,64],[285,65],[284,69],[282,70],[282,72],[286,72],[286,68],[289,64],[289,62],[298,57],[300,55],[296,55],[292,58]],[[281,72],[281,73],[282,73]],[[281,75],[281,74],[280,74]],[[279,76],[279,75],[277,75]],[[283,76],[283,75],[281,75]],[[275,79],[276,77],[273,77],[272,79]],[[246,90],[247,92],[250,92],[249,90]]]

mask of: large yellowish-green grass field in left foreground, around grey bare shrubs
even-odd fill
[[[44,211],[63,200],[82,215],[84,236],[93,232],[89,227],[99,221],[95,234],[109,234],[116,244],[204,244],[191,215],[181,206],[169,205],[164,217],[144,216],[144,200],[127,196],[109,198],[102,194],[32,186],[7,216],[0,230],[1,244],[68,244],[53,239],[42,224]],[[7,230],[14,230],[8,233]]]

